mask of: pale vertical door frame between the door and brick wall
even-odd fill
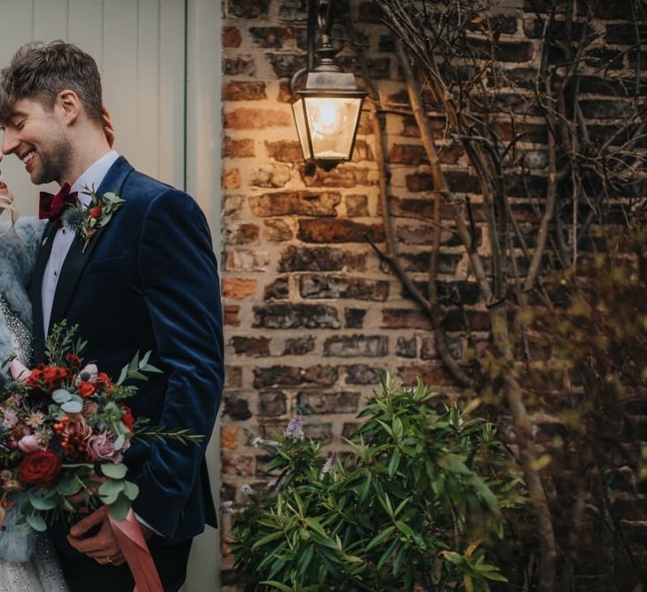
[[[221,29],[220,2],[185,0],[185,187],[204,211],[220,260]],[[211,489],[220,493],[220,426],[207,448]],[[220,588],[220,531],[208,528],[193,542],[185,592]]]

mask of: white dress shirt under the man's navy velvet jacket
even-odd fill
[[[99,189],[101,181],[106,177],[106,173],[114,161],[119,158],[114,150],[104,154],[97,162],[92,164],[81,177],[77,178],[75,184],[70,188],[70,192],[78,192],[78,199],[87,206],[90,203],[90,195],[82,193],[86,187],[90,187],[94,191]],[[75,233],[65,228],[59,228],[54,235],[54,241],[51,244],[50,258],[47,260],[45,271],[43,272],[43,286],[41,288],[41,296],[43,298],[43,329],[45,337],[47,337],[48,328],[50,326],[51,318],[51,305],[54,302],[54,294],[56,293],[56,286],[59,283],[60,270],[63,267],[67,253],[69,252],[72,243],[75,240]]]

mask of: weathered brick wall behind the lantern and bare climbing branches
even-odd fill
[[[307,3],[224,1],[227,379],[221,446],[222,499],[233,500],[240,499],[241,485],[263,480],[265,459],[251,445],[252,439],[271,437],[292,414],[304,414],[307,433],[335,449],[351,435],[361,402],[377,382],[376,370],[394,370],[410,382],[421,377],[445,391],[452,390],[452,383],[440,362],[430,320],[406,297],[367,242],[368,237],[383,247],[384,241],[368,118],[360,122],[352,162],[328,172],[304,165],[288,80],[305,65]],[[497,57],[521,88],[501,97],[501,104],[512,110],[521,108],[519,94],[540,59],[542,25],[530,4],[523,4],[507,0],[501,13],[493,15],[493,24],[501,30]],[[619,70],[634,68],[637,60],[647,62],[644,52],[627,51],[627,45],[635,43],[635,31],[623,31],[614,23],[626,17],[626,3],[606,2],[601,11],[593,22],[597,31],[608,31],[601,55],[617,56],[612,67]],[[434,200],[429,163],[414,119],[406,114],[406,91],[389,31],[372,3],[351,0],[351,12],[368,44],[368,66],[383,104],[396,112],[387,116],[386,125],[391,209],[397,216],[402,264],[425,292]],[[340,56],[344,67],[357,71],[352,51],[343,48]],[[599,77],[584,78],[581,91],[592,136],[623,113],[623,91]],[[431,123],[443,129],[441,117],[432,117]],[[519,131],[511,129],[505,117],[498,130],[504,139]],[[519,175],[509,178],[508,187],[522,229],[525,221],[536,219],[529,197],[545,196],[548,175],[546,127],[532,111],[525,118],[525,132],[517,144]],[[462,147],[447,143],[440,158],[452,190],[469,194],[474,219],[482,223],[478,181]],[[444,217],[448,220],[449,212]],[[476,238],[486,255],[489,245],[478,227]],[[449,346],[463,355],[469,348],[468,332],[482,343],[489,321],[479,308],[467,257],[451,228],[442,233],[441,245],[438,298],[446,307]],[[230,517],[224,516],[225,541],[230,525]],[[230,566],[225,556],[225,590],[234,589]]]

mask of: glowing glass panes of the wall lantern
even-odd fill
[[[350,160],[362,99],[305,97],[304,101],[313,158]]]

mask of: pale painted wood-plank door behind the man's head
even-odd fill
[[[0,0],[0,67],[23,43],[63,39],[97,60],[114,148],[138,170],[185,187],[185,0]],[[22,215],[38,192],[14,155],[0,162]]]

